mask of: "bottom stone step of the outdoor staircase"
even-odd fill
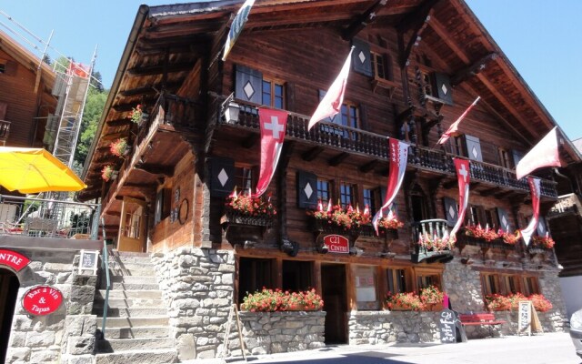
[[[127,350],[95,355],[95,364],[167,364],[177,360],[176,349]]]

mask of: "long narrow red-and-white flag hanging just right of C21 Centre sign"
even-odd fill
[[[390,157],[390,173],[388,174],[388,183],[386,187],[386,199],[384,205],[378,209],[374,218],[372,218],[372,225],[378,234],[378,220],[383,216],[382,210],[386,209],[392,204],[396,197],[402,181],[404,180],[404,172],[406,171],[406,162],[408,160],[409,145],[403,141],[388,137],[388,153]]]

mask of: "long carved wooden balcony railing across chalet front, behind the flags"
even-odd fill
[[[258,113],[255,105],[245,104],[236,100],[241,106],[238,120],[233,124],[226,123],[223,117],[219,122],[223,127],[239,127],[260,132]],[[312,144],[318,147],[336,149],[339,153],[349,153],[370,157],[379,161],[388,160],[388,143],[386,136],[370,133],[349,126],[320,122],[311,130],[307,130],[309,116],[289,113],[287,119],[286,139]],[[408,166],[426,171],[437,172],[455,178],[453,157],[441,149],[431,149],[412,145],[408,155]],[[493,164],[471,160],[471,182],[486,184],[489,187],[501,187],[529,194],[527,179],[517,179],[515,171]],[[541,180],[542,197],[557,197],[556,183],[547,179]]]

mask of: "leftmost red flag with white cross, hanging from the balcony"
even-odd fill
[[[258,119],[261,124],[261,170],[256,184],[255,197],[263,195],[275,174],[276,164],[281,157],[287,126],[286,111],[261,107]]]

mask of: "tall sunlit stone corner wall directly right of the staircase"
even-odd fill
[[[156,253],[152,260],[168,304],[170,333],[179,358],[215,358],[233,304],[234,252],[177,248]]]

